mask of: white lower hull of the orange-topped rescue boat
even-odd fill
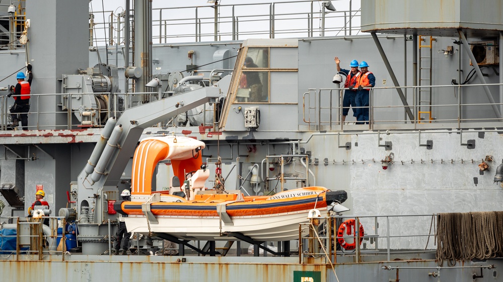
[[[157,217],[159,224],[150,224],[153,233],[165,233],[184,240],[232,240],[226,232],[239,232],[256,241],[286,241],[299,239],[299,224],[308,223],[309,210],[266,216],[234,217],[233,226],[226,226],[218,217]],[[325,208],[322,217],[328,216]],[[142,216],[125,218],[128,232],[148,234],[147,219]],[[304,229],[303,234],[307,232]],[[224,234],[221,236],[221,234]]]

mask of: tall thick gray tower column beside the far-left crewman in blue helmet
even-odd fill
[[[31,22],[27,52],[33,65],[32,93],[61,93],[61,76],[77,74],[78,68],[89,65],[89,2],[27,0],[26,19]],[[40,114],[41,127],[56,124],[61,125],[56,129],[66,128],[66,112],[54,113],[61,111],[60,100],[57,95],[48,95],[31,101],[31,112],[50,112]],[[35,125],[35,120],[29,119],[29,125]]]

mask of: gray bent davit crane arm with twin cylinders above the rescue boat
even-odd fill
[[[118,120],[109,119],[91,158],[79,174],[77,185],[72,187],[72,193],[77,193],[77,214],[86,207],[94,215],[89,217],[89,223],[106,221],[108,215],[103,210],[106,205],[99,203],[107,200],[107,192],[116,192],[143,130],[189,109],[216,102],[220,92],[219,87],[204,87],[127,109]]]

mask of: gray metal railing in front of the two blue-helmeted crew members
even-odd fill
[[[383,93],[387,93],[389,95],[390,90],[394,89],[411,89],[415,94],[422,88],[432,88],[437,89],[438,97],[445,97],[454,91],[460,92],[467,87],[482,87],[482,86],[501,86],[503,84],[470,84],[470,85],[434,85],[434,86],[404,86],[404,87],[374,87],[370,89],[370,124],[364,126],[368,127],[368,129],[376,130],[380,125],[386,124],[406,124],[405,127],[412,127],[414,129],[419,129],[426,124],[421,124],[423,119],[421,116],[418,116],[418,101],[417,95],[413,96],[412,102],[408,105],[410,109],[413,109],[413,113],[415,113],[414,120],[408,119],[393,119],[387,118],[390,116],[399,116],[396,113],[402,113],[405,111],[405,106],[403,105],[393,105],[387,103],[386,99],[378,99],[375,100],[374,97],[376,95],[378,97],[383,97]],[[303,121],[304,123],[311,129],[315,130],[344,130],[348,126],[352,126],[353,121],[346,120],[345,122],[341,122],[342,120],[342,95],[347,88],[310,88],[303,95]],[[389,96],[388,96],[389,97]],[[337,101],[335,105],[332,105],[333,101]],[[448,99],[446,101],[449,102]],[[327,106],[328,105],[328,106]],[[489,102],[481,102],[481,103],[463,103],[462,99],[452,99],[451,103],[444,104],[434,104],[432,105],[433,111],[437,110],[435,117],[428,121],[428,124],[442,124],[442,123],[457,123],[457,127],[461,128],[468,122],[501,122],[502,119],[498,119],[497,117],[492,116],[492,106],[493,105],[503,105],[503,103],[489,103]],[[487,107],[487,111],[479,111],[477,112],[477,116],[466,116],[464,112],[461,110],[466,110],[469,107]],[[352,107],[355,109],[356,107]],[[441,112],[442,109],[453,109],[450,113]],[[454,110],[455,109],[455,110]],[[431,114],[431,113],[430,113]],[[333,118],[335,115],[337,118]],[[408,125],[407,125],[408,124]],[[335,129],[337,126],[338,129]],[[430,125],[435,126],[435,125]],[[362,126],[360,127],[362,128]],[[382,129],[382,128],[381,128]]]

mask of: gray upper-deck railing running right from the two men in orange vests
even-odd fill
[[[486,86],[500,86],[500,84],[485,84]],[[375,87],[369,93],[369,107],[352,107],[352,113],[357,108],[369,109],[368,124],[361,125],[368,129],[377,129],[380,125],[386,124],[405,124],[412,129],[424,127],[424,124],[446,124],[455,123],[456,127],[463,128],[469,123],[481,122],[501,122],[501,118],[497,118],[493,109],[496,106],[500,112],[503,111],[503,103],[466,103],[464,102],[466,93],[474,93],[473,88],[481,88],[482,84],[472,85],[439,85],[439,86],[409,86],[409,87]],[[409,93],[409,97],[405,97],[408,105],[393,105],[391,95],[396,95],[395,90],[402,89],[404,93]],[[423,105],[419,105],[418,93],[421,88],[432,88],[437,90],[436,97],[440,101],[452,101],[452,103],[438,103],[427,106],[432,111],[421,111]],[[468,90],[470,88],[470,90]],[[347,88],[321,88],[308,89],[303,94],[303,122],[309,128],[315,130],[344,130],[348,126],[355,123],[349,118],[342,122],[342,98],[344,91]],[[391,91],[391,94],[389,94]],[[452,99],[447,95],[452,95],[453,91],[456,98]],[[470,92],[468,92],[470,91]],[[412,93],[412,95],[410,95]],[[460,95],[461,93],[461,95]],[[386,95],[383,95],[386,94]],[[375,97],[380,97],[375,99]],[[382,98],[386,97],[386,98]],[[466,99],[467,100],[467,99]],[[389,102],[388,102],[389,101]],[[400,101],[399,101],[400,103]],[[413,119],[408,118],[407,111],[412,113]],[[423,113],[429,113],[424,115]],[[403,116],[403,118],[394,118]],[[433,125],[433,126],[434,126]]]

